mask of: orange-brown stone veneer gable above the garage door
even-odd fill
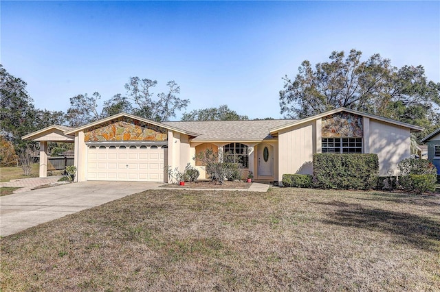
[[[122,117],[85,132],[85,142],[98,141],[167,141],[167,131],[150,123]]]

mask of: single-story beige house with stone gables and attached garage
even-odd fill
[[[281,181],[285,173],[312,173],[316,153],[373,153],[380,174],[410,157],[410,133],[422,127],[338,108],[300,120],[156,122],[120,113],[74,129],[53,125],[23,139],[39,141],[40,176],[47,172],[47,142],[75,143],[77,182],[168,182],[164,167],[204,167],[205,149],[230,152],[254,180]]]

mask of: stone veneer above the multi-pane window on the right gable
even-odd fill
[[[362,138],[362,117],[338,112],[322,118],[322,138]]]

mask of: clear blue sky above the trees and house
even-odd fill
[[[1,1],[1,64],[37,108],[125,93],[129,77],[175,80],[186,111],[228,104],[281,118],[282,77],[331,51],[421,64],[440,82],[439,1]],[[177,120],[182,112],[177,113]]]

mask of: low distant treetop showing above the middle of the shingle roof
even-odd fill
[[[185,112],[181,121],[244,121],[248,119],[248,116],[237,114],[224,104],[218,108],[203,108],[188,113]]]

